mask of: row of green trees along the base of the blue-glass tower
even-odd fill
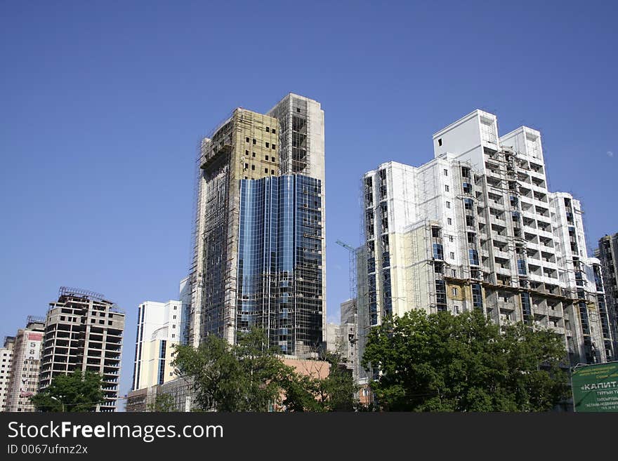
[[[287,411],[353,410],[355,386],[350,373],[328,356],[331,373],[320,379],[286,366],[276,348],[268,347],[263,330],[251,330],[230,345],[209,335],[197,349],[177,346],[173,362],[190,378],[197,410]]]

